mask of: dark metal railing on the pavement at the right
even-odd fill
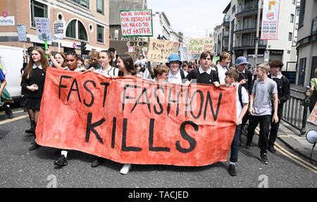
[[[300,134],[303,135],[306,133],[307,113],[309,108],[309,90],[300,91],[292,88],[290,90],[291,98],[284,103],[282,120],[299,130]]]

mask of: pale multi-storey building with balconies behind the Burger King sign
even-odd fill
[[[261,6],[262,8],[263,6]],[[235,63],[235,58],[245,56],[252,66],[256,65],[254,63],[258,11],[259,0],[232,0],[223,11],[225,15],[223,25],[217,28],[221,37],[217,37],[215,34],[215,43],[218,42],[217,51],[233,52],[233,63]],[[287,63],[296,63],[296,51],[293,46],[297,37],[296,11],[297,4],[295,0],[280,1],[278,40],[259,41],[258,63],[280,60],[285,64],[285,68],[288,68]],[[262,14],[260,20],[261,18]],[[218,39],[217,42],[216,38]],[[228,39],[228,42],[226,39]],[[294,65],[292,66],[294,67]]]

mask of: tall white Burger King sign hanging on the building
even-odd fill
[[[280,0],[264,0],[262,13],[262,40],[278,40],[278,16],[280,13]]]

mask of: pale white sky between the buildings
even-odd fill
[[[175,32],[185,37],[206,37],[223,23],[230,0],[147,0],[147,8],[164,12]]]

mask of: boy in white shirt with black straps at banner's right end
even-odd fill
[[[231,176],[237,175],[237,171],[235,170],[235,164],[237,163],[238,159],[240,130],[242,118],[244,117],[244,114],[247,113],[249,103],[249,94],[247,90],[237,82],[238,78],[239,75],[235,69],[230,69],[228,70],[228,72],[225,72],[225,84],[237,86],[237,120],[235,121],[235,136],[233,137],[231,144],[230,165],[228,168],[229,174]]]

